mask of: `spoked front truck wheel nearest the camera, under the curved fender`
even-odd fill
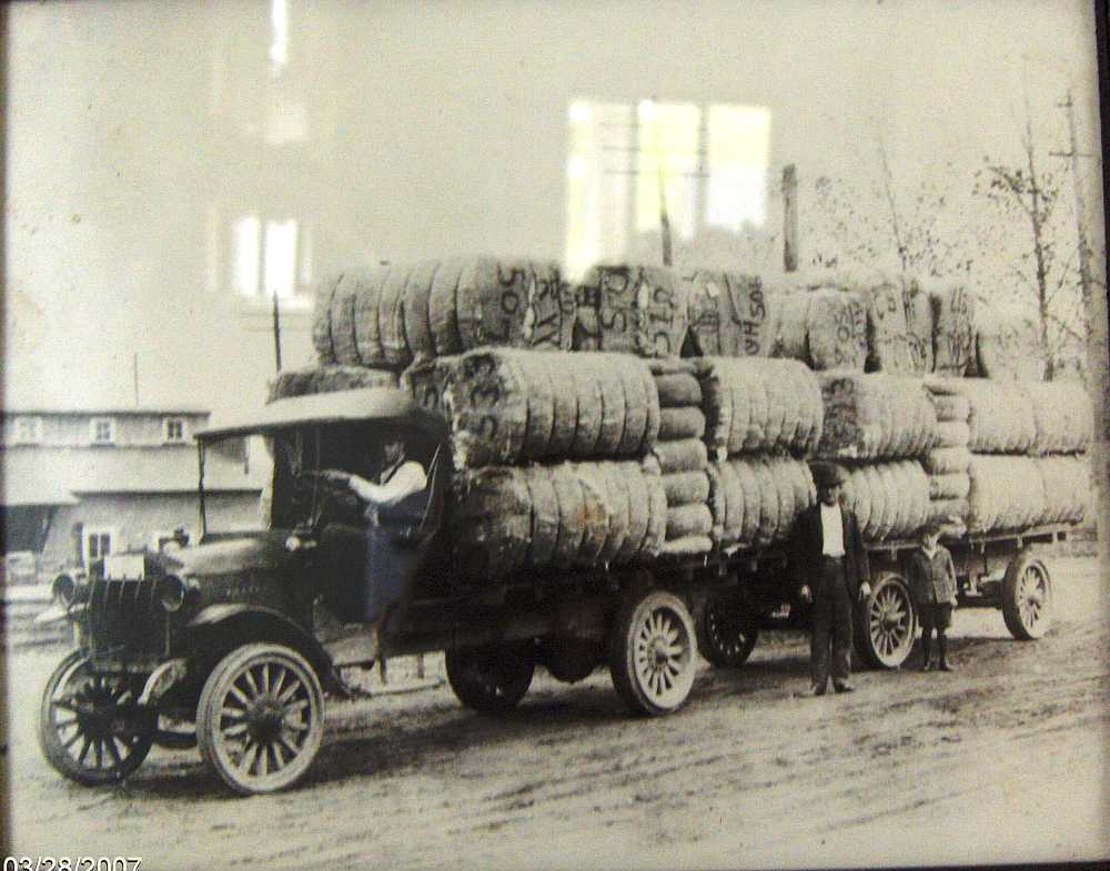
[[[196,708],[201,756],[242,794],[274,792],[312,764],[324,733],[320,679],[280,645],[248,645],[212,670]]]

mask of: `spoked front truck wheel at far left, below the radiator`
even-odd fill
[[[87,787],[117,783],[142,764],[157,716],[139,708],[142,681],[99,675],[79,650],[54,669],[42,693],[39,746],[58,771]]]

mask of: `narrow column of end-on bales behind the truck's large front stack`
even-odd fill
[[[707,554],[713,549],[708,455],[702,411],[702,385],[694,363],[658,359],[650,364],[659,397],[658,440],[652,456],[667,497],[667,533],[663,553]]]

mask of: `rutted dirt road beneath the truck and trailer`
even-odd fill
[[[17,855],[135,855],[176,868],[736,868],[1110,855],[1110,610],[1090,559],[1057,559],[1057,622],[1010,640],[956,616],[955,675],[865,672],[796,699],[806,639],[704,666],[690,703],[628,718],[608,676],[538,677],[498,719],[446,687],[334,705],[309,781],[231,798],[195,751],[155,750],[127,786],[57,776],[34,742],[62,650],[8,658]]]

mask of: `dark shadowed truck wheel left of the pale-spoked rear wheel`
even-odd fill
[[[444,654],[447,682],[467,708],[486,713],[512,710],[532,686],[536,668],[531,645],[491,645]]]

